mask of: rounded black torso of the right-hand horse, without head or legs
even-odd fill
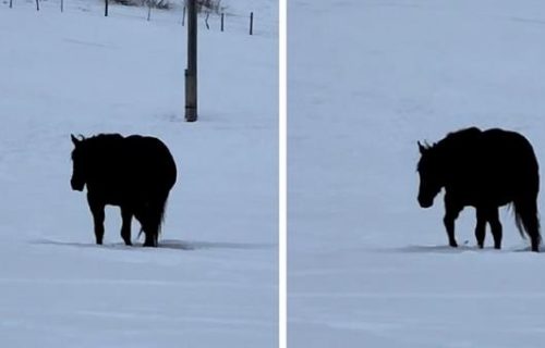
[[[468,128],[447,136],[451,179],[447,185],[468,204],[504,206],[537,195],[538,165],[530,141],[517,132]]]

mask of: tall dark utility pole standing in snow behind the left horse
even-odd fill
[[[185,70],[185,121],[197,121],[197,8],[187,0],[187,69]]]

